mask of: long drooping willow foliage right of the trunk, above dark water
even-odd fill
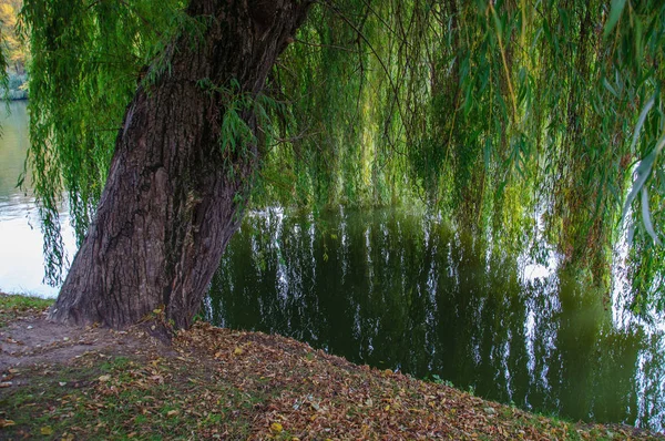
[[[664,23],[653,1],[328,3],[277,74],[310,135],[273,158],[297,202],[416,192],[597,285],[627,239],[634,307],[662,309]]]

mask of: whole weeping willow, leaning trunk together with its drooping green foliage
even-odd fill
[[[164,307],[187,327],[250,195],[420,197],[593,267],[628,218],[636,279],[662,277],[658,1],[25,0],[23,18],[51,279],[62,191],[81,243],[54,319]]]

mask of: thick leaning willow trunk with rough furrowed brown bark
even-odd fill
[[[309,3],[191,1],[187,13],[205,32],[172,42],[168,69],[127,106],[95,221],[51,319],[123,328],[164,307],[175,327],[191,325],[262,154],[256,145],[223,151],[228,96],[200,80],[226,88],[235,80],[243,92],[260,93]],[[257,130],[250,112],[242,117]]]

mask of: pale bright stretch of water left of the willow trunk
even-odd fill
[[[42,284],[43,239],[34,197],[17,188],[30,145],[27,103],[10,103],[9,114],[0,106],[0,290],[53,297],[58,288]],[[30,176],[25,184],[30,187]],[[66,253],[73,256],[75,240],[64,207],[61,222]]]

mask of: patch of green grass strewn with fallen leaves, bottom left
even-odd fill
[[[202,372],[190,365],[146,368],[145,360],[109,362],[94,355],[62,368],[57,377],[41,368],[19,370],[16,378],[31,382],[0,400],[2,418],[13,422],[0,438],[187,439],[192,430],[216,427],[225,419],[223,413],[198,414],[197,397],[207,392],[233,402],[241,393],[222,383],[178,381],[185,375]]]

